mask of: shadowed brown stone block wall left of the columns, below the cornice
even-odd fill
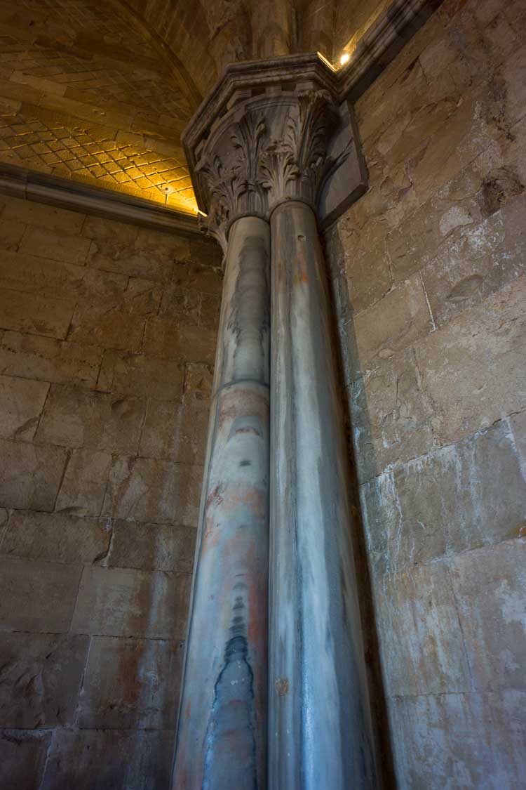
[[[162,790],[218,247],[0,205],[0,786]]]

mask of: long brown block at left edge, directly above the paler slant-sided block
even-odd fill
[[[103,349],[51,337],[5,332],[0,340],[0,372],[56,384],[93,389]]]

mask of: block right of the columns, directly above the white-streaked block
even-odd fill
[[[412,349],[381,359],[349,387],[349,410],[360,480],[435,446],[432,404],[420,388]]]

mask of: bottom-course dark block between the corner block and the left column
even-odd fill
[[[41,790],[167,788],[173,740],[173,731],[58,730]]]

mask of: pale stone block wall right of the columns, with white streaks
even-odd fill
[[[526,7],[446,0],[326,235],[401,788],[526,775]]]

